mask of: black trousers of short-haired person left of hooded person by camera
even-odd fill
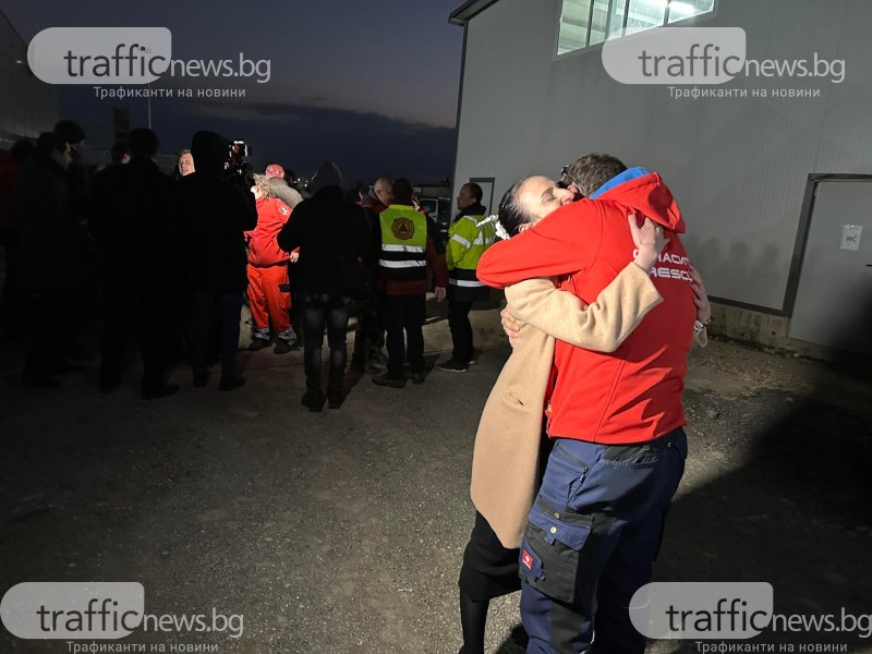
[[[107,283],[106,314],[100,339],[100,382],[119,382],[128,338],[131,331],[138,330],[143,358],[143,390],[149,391],[161,386],[167,362],[168,314],[166,289],[134,290]]]

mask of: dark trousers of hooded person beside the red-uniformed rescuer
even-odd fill
[[[324,329],[327,328],[327,344],[330,347],[330,372],[328,390],[341,390],[346,375],[348,347],[348,313],[351,300],[334,293],[303,293],[303,362],[306,373],[306,390],[320,392],[320,356]]]

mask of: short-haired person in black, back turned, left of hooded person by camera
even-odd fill
[[[142,396],[147,400],[179,390],[164,380],[171,290],[170,221],[177,210],[175,183],[158,170],[157,135],[130,132],[130,162],[94,177],[90,232],[97,243],[106,316],[100,343],[100,390],[121,384],[128,335],[136,325],[143,358]]]

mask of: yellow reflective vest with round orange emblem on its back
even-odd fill
[[[390,205],[378,215],[382,227],[383,278],[411,281],[427,278],[427,219],[414,207]]]

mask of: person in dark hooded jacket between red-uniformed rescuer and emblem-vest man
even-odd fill
[[[306,392],[302,403],[320,411],[324,392],[320,382],[324,328],[330,346],[330,373],[327,400],[330,409],[342,405],[349,306],[351,298],[342,288],[343,265],[360,261],[372,265],[375,256],[366,230],[363,209],[342,194],[342,174],[332,161],[325,161],[312,179],[313,196],[293,211],[278,237],[279,246],[300,249],[296,276],[303,294],[304,361]]]

